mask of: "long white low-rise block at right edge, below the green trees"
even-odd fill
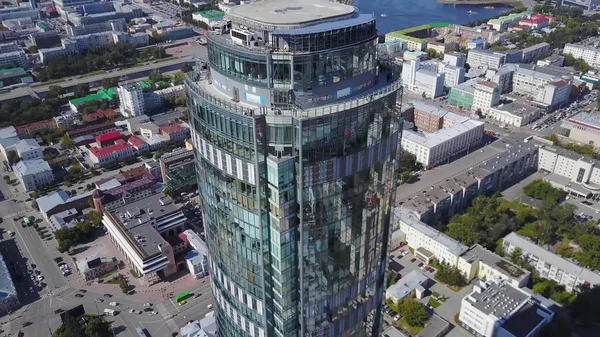
[[[600,274],[597,272],[556,255],[514,232],[504,238],[502,245],[505,254],[511,254],[517,248],[521,249],[523,259],[531,264],[541,277],[556,281],[568,291],[577,290],[582,284],[590,287],[600,284]]]

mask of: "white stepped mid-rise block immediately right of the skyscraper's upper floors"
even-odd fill
[[[415,93],[425,97],[441,96],[444,91],[444,74],[425,69],[419,61],[404,62],[402,66],[402,84]]]

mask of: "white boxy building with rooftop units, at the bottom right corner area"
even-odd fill
[[[475,336],[538,336],[554,312],[502,279],[479,281],[461,301],[458,323]]]

